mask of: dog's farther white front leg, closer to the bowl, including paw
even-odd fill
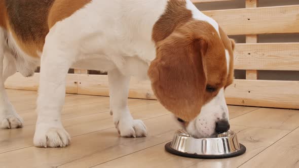
[[[113,114],[115,127],[122,137],[144,137],[146,128],[141,120],[134,120],[128,108],[130,77],[118,69],[108,71],[110,91],[110,112]]]

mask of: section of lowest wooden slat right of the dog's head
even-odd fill
[[[299,81],[236,79],[226,98],[231,105],[299,109]]]

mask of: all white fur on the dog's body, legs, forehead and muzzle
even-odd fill
[[[50,29],[43,53],[36,51],[41,55],[41,75],[35,146],[64,147],[70,143],[70,137],[60,118],[65,96],[65,76],[70,67],[108,71],[110,109],[116,128],[121,136],[125,137],[146,135],[143,122],[134,120],[129,112],[129,80],[132,75],[147,78],[148,66],[156,57],[156,48],[152,41],[153,26],[164,13],[166,6],[167,0],[92,1]],[[187,0],[186,7],[192,11],[195,19],[207,21],[219,32],[218,24],[197,10],[190,0]],[[25,76],[32,75],[35,67],[40,64],[39,59],[28,57],[17,46],[12,35],[2,29],[0,38],[4,39],[3,41],[8,38],[9,42],[0,44],[0,61],[6,62],[4,66],[0,64],[0,69],[10,69],[3,73],[9,76],[19,70]],[[0,43],[3,41],[0,40]],[[2,46],[7,46],[7,49],[1,48]],[[8,52],[9,57],[6,58],[5,52]],[[4,102],[0,104],[0,124],[5,125],[4,128],[6,125],[21,127],[23,121],[5,93],[5,79],[0,76],[0,101]],[[223,112],[227,113],[223,99],[221,90],[216,98],[203,107],[202,113],[197,117],[206,118],[207,128],[210,130],[214,127],[212,121]],[[213,115],[209,113],[211,110]],[[201,124],[196,120],[194,123]],[[188,130],[194,134],[211,134],[207,129],[197,126]]]

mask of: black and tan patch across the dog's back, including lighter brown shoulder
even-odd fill
[[[89,2],[91,0],[0,0],[0,26],[11,31],[23,52],[39,57],[37,52],[43,51],[49,29]]]

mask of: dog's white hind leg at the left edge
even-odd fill
[[[0,29],[0,39],[5,39]],[[17,72],[14,57],[5,53],[4,40],[0,41],[0,129],[23,127],[23,119],[17,114],[5,91],[5,80]]]

